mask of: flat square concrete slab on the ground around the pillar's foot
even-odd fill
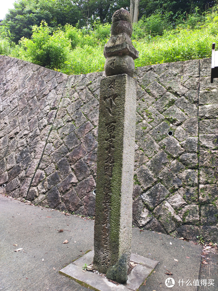
[[[98,291],[135,291],[145,281],[155,266],[159,263],[153,259],[145,258],[137,254],[131,254],[130,261],[137,263],[132,269],[125,284],[116,284],[90,271],[83,272],[84,264],[90,265],[93,262],[94,250],[83,255],[69,264],[59,273],[67,276],[76,282]]]

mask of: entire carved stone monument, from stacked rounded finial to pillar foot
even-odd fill
[[[136,81],[130,14],[112,17],[100,85],[93,267],[124,283],[131,255]]]

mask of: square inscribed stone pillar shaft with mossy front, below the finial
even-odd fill
[[[107,273],[123,254],[126,254],[127,265],[130,260],[135,124],[136,81],[126,74],[103,78],[93,262],[101,273]]]

